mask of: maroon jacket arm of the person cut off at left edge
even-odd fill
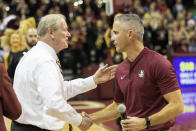
[[[22,112],[21,105],[13,90],[11,80],[0,63],[0,131],[6,131],[3,115],[16,120]]]

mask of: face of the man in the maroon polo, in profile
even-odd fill
[[[129,33],[121,25],[119,21],[114,22],[112,41],[117,52],[126,52],[130,44]]]

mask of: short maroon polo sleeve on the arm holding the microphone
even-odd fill
[[[163,95],[179,89],[174,68],[168,60],[165,58],[159,59],[154,71],[154,79]]]

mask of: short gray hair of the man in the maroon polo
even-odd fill
[[[133,30],[136,33],[137,39],[143,41],[144,26],[140,17],[136,14],[121,14],[115,16],[114,22],[119,21],[125,30]]]

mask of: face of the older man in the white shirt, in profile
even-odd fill
[[[62,20],[58,29],[54,32],[55,45],[57,45],[57,52],[60,52],[64,48],[68,48],[68,40],[71,34],[68,31],[67,23]]]

